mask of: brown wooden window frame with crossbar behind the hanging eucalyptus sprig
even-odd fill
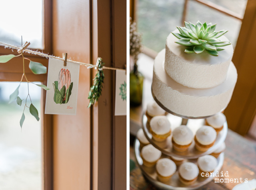
[[[52,0],[43,0],[44,9],[44,49],[43,52],[52,54]],[[15,54],[18,52],[14,50],[4,48],[0,46],[0,55]],[[35,62],[40,62],[47,67],[48,70],[48,59],[40,57],[38,55],[24,53],[26,58],[29,58]],[[47,85],[47,73],[35,75],[31,72],[28,67],[28,60],[25,60],[25,73],[30,81],[41,82]],[[0,66],[0,81],[9,82],[20,82],[23,74],[22,57],[13,58],[7,63],[1,64]],[[23,78],[22,82],[26,82]],[[41,105],[45,105],[46,91],[42,90]],[[52,115],[44,114],[44,106],[41,106],[41,135],[42,135],[42,190],[52,190],[53,187],[53,149],[52,149]]]

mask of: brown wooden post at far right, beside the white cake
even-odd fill
[[[248,0],[232,58],[238,80],[230,104],[225,110],[228,127],[241,135],[247,134],[256,114],[256,64],[253,60],[256,51],[255,31],[256,2]]]

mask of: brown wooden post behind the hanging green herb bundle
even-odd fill
[[[92,63],[126,64],[126,1],[92,0]],[[92,71],[91,78],[94,78]],[[114,116],[115,71],[104,70],[104,87],[92,108],[92,190],[126,189],[126,116]]]

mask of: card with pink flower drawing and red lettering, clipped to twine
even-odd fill
[[[76,115],[80,65],[49,58],[45,114]]]

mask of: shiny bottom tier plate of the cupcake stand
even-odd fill
[[[157,174],[156,174],[156,169],[155,167],[149,168],[143,165],[142,158],[140,157],[140,142],[138,139],[135,140],[134,143],[134,150],[135,150],[135,156],[136,156],[136,161],[142,170],[144,176],[154,185],[157,187],[157,189],[161,190],[196,190],[200,188],[201,186],[204,186],[208,182],[210,182],[214,177],[208,177],[208,178],[203,178],[201,176],[198,176],[197,181],[190,185],[186,186],[182,184],[179,180],[179,174],[178,174],[178,167],[177,171],[174,173],[172,176],[171,180],[169,182],[160,182],[157,180]],[[162,155],[162,158],[166,158],[167,156]],[[219,171],[222,168],[223,162],[224,162],[224,153],[221,153],[220,156],[218,157],[218,166],[214,173],[216,171]],[[196,159],[189,160],[189,162],[196,162]]]

